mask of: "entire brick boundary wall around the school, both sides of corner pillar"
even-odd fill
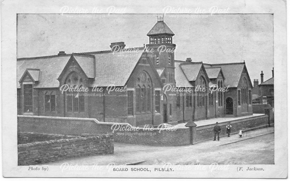
[[[256,127],[266,125],[268,116],[264,115],[262,118],[251,117],[232,121],[233,129],[245,127]],[[261,120],[259,120],[259,119]],[[253,119],[253,120],[251,120]],[[245,123],[242,123],[245,122]],[[252,123],[253,122],[253,123]],[[119,130],[112,133],[112,125],[120,126]],[[224,126],[227,123],[220,124]],[[239,126],[240,124],[240,126]],[[39,133],[54,133],[64,135],[81,135],[83,133],[89,134],[113,134],[115,142],[144,144],[155,146],[181,146],[191,144],[192,138],[196,141],[207,140],[213,137],[213,126],[206,125],[196,127],[196,132],[191,133],[189,127],[178,127],[175,130],[171,128],[160,129],[153,128],[150,130],[134,130],[128,123],[114,123],[114,122],[99,122],[94,118],[75,118],[75,117],[46,117],[46,116],[26,116],[18,115],[18,128],[26,132]],[[221,136],[224,133],[221,133]]]

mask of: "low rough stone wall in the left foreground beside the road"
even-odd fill
[[[18,165],[36,165],[48,162],[93,156],[113,154],[113,135],[81,135],[70,139],[57,139],[19,144]]]

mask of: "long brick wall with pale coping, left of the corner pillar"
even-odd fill
[[[112,122],[99,122],[93,118],[69,118],[18,115],[18,129],[21,132],[52,133],[61,135],[112,134]],[[115,130],[114,141],[122,143],[158,146],[180,146],[190,143],[189,128],[176,130],[153,128],[152,130],[130,131],[128,123],[118,123],[127,130]],[[151,127],[150,127],[151,128]]]

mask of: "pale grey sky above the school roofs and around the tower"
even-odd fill
[[[74,16],[76,15],[76,16]],[[18,14],[17,58],[109,50],[149,43],[158,14]],[[160,14],[158,16],[161,16]],[[272,14],[166,14],[175,33],[175,59],[204,63],[245,61],[251,81],[272,77]]]

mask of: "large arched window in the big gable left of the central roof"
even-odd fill
[[[79,88],[83,87],[83,79],[77,74],[77,72],[71,73],[67,79],[66,84],[70,87]],[[67,92],[66,104],[68,112],[84,112],[85,111],[85,99],[83,92]]]

